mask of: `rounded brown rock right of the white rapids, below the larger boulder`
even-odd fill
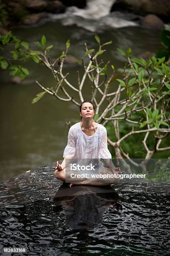
[[[151,29],[161,29],[164,25],[163,21],[154,14],[148,14],[141,20],[141,25]]]

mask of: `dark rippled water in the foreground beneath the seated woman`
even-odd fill
[[[170,255],[170,183],[68,188],[53,164],[0,185],[0,255]]]

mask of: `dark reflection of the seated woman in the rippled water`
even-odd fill
[[[68,196],[60,197],[63,193]],[[111,186],[77,186],[70,188],[63,184],[54,200],[55,205],[64,205],[65,225],[72,229],[90,230],[102,223],[103,214],[112,205],[119,209],[119,195]],[[117,212],[116,211],[116,212]]]

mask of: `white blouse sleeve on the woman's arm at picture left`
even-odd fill
[[[74,130],[70,127],[68,132],[67,146],[65,147],[63,157],[74,157],[75,156],[75,136]]]

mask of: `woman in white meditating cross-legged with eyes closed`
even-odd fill
[[[85,162],[85,159],[98,159],[100,158],[105,160],[105,163],[109,168],[103,166],[101,161],[98,161],[97,164],[97,173],[98,174],[121,174],[120,168],[115,168],[112,163],[112,156],[110,151],[107,148],[107,131],[106,128],[98,123],[93,122],[93,117],[95,115],[95,107],[91,100],[85,100],[80,105],[80,116],[82,122],[76,123],[70,127],[68,132],[68,141],[67,146],[65,147],[63,157],[64,160],[62,164],[59,164],[57,161],[57,166],[54,167],[54,175],[57,179],[66,181],[66,165],[68,161],[72,159],[82,159]],[[67,161],[66,161],[67,159]],[[69,159],[69,160],[68,160]],[[97,186],[106,186],[118,182],[119,179],[79,179],[78,182],[74,180],[68,184],[69,187],[74,185],[97,185]]]

